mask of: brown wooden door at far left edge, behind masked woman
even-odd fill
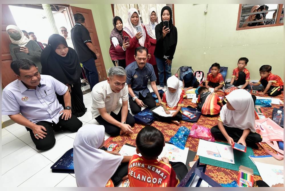
[[[9,35],[6,32],[6,27],[8,25],[16,25],[13,15],[8,7],[7,4],[2,4],[2,52],[1,52],[1,66],[2,66],[2,87],[5,88],[9,83],[13,82],[17,78],[14,76],[14,72],[10,67],[12,60],[10,50],[9,50],[9,44],[11,43],[11,40],[9,38]]]

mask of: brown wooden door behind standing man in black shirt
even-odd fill
[[[90,33],[92,44],[96,48],[96,50],[100,53],[100,58],[95,60],[96,68],[97,68],[98,76],[99,76],[99,82],[107,80],[106,69],[105,69],[105,65],[104,65],[104,61],[102,57],[102,52],[101,52],[101,48],[100,48],[100,44],[99,44],[99,40],[98,40],[98,36],[96,32],[96,27],[95,27],[92,11],[90,9],[84,9],[84,8],[73,7],[73,6],[70,6],[70,9],[72,12],[73,20],[74,20],[73,15],[76,13],[80,13],[84,16],[85,23],[86,23],[85,27]],[[71,22],[71,23],[73,27],[74,26],[73,23],[75,22]]]

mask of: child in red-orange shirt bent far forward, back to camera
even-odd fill
[[[198,94],[198,108],[203,115],[217,115],[220,112],[223,103],[218,94],[209,92],[205,86],[198,89]]]

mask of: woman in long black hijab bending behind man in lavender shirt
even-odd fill
[[[80,62],[74,49],[68,47],[66,40],[59,34],[48,38],[48,46],[40,56],[42,74],[50,75],[68,86],[71,95],[71,111],[76,117],[86,112],[81,91]],[[65,108],[62,95],[56,95],[60,104]],[[67,106],[67,105],[66,105]]]

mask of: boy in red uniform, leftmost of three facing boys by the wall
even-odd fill
[[[225,82],[222,74],[220,73],[220,64],[215,62],[211,66],[211,73],[207,75],[203,86],[209,88],[210,86],[214,88],[214,92],[217,92],[220,88],[223,88]]]

